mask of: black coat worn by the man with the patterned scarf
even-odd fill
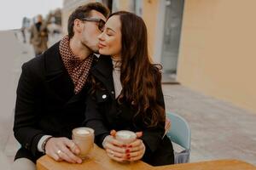
[[[15,138],[21,144],[15,159],[36,161],[38,141],[45,134],[71,138],[84,121],[88,85],[74,94],[71,77],[61,60],[59,42],[22,65],[15,105]]]

